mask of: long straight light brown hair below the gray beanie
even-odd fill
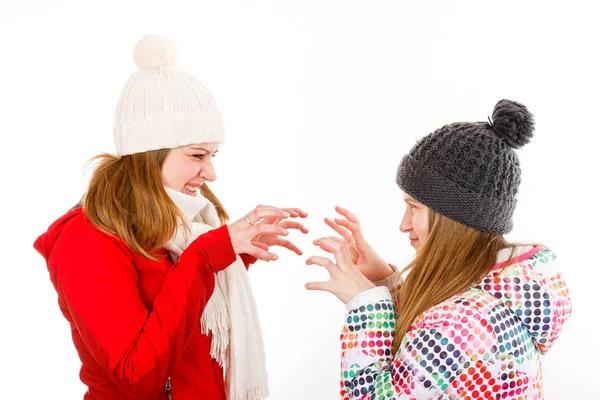
[[[496,263],[498,251],[513,248],[502,235],[479,231],[429,209],[429,234],[402,271],[394,291],[399,306],[394,353],[413,321],[427,309],[468,290]]]

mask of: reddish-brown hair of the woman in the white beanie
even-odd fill
[[[93,157],[94,172],[83,198],[83,211],[94,226],[121,238],[148,259],[177,231],[179,208],[164,189],[162,166],[170,149],[117,157]],[[217,209],[221,224],[229,219],[221,202],[206,186],[201,192]]]

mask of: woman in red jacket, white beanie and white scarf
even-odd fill
[[[81,207],[35,242],[82,362],[84,399],[263,399],[264,352],[246,268],[306,229],[258,206],[226,224],[206,186],[224,139],[211,94],[149,35],[117,107],[117,155],[96,157]],[[224,371],[224,369],[226,371]],[[224,375],[226,374],[226,375]]]

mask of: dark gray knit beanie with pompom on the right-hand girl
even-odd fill
[[[508,233],[521,182],[513,149],[529,143],[533,130],[533,116],[524,105],[500,100],[489,123],[445,125],[417,142],[398,167],[397,183],[447,217]]]

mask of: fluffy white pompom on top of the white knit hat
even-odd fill
[[[166,37],[150,34],[143,37],[133,49],[133,60],[139,69],[159,69],[177,63],[177,46]]]

